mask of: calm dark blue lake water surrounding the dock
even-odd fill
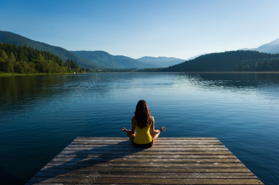
[[[279,74],[97,75],[0,77],[0,184],[26,183],[77,136],[126,137],[140,99],[159,137],[216,137],[279,184]]]

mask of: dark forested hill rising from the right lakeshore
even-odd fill
[[[229,51],[199,56],[162,72],[279,71],[279,54]]]

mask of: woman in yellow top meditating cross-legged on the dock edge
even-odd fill
[[[132,118],[132,129],[128,130],[123,127],[122,130],[127,132],[134,147],[150,148],[159,136],[160,131],[164,131],[165,127],[158,130],[154,129],[154,118],[151,116],[147,103],[144,100],[140,100]]]

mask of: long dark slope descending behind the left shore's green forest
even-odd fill
[[[38,50],[49,51],[50,53],[62,58],[64,61],[67,58],[76,60],[77,64],[81,67],[88,67],[88,68],[102,67],[94,62],[87,61],[86,59],[81,58],[80,56],[77,56],[77,55],[65,50],[64,48],[51,46],[51,45],[43,43],[43,42],[31,40],[29,38],[22,37],[18,34],[14,34],[12,32],[0,31],[0,42],[1,43],[7,42],[7,43],[17,44],[17,45],[22,45],[22,46],[24,46],[24,44],[26,44],[27,46],[33,47],[34,49],[37,48]]]

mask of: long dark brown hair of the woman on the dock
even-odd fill
[[[144,100],[140,100],[136,106],[135,119],[137,120],[137,126],[140,129],[147,127],[148,120],[151,116],[151,112],[148,109],[147,103]]]

